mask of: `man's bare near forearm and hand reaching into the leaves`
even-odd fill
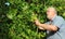
[[[48,24],[40,24],[39,21],[36,21],[36,25],[38,27],[42,27],[43,30],[50,30],[50,31],[56,31],[58,28],[54,25],[48,25]]]

